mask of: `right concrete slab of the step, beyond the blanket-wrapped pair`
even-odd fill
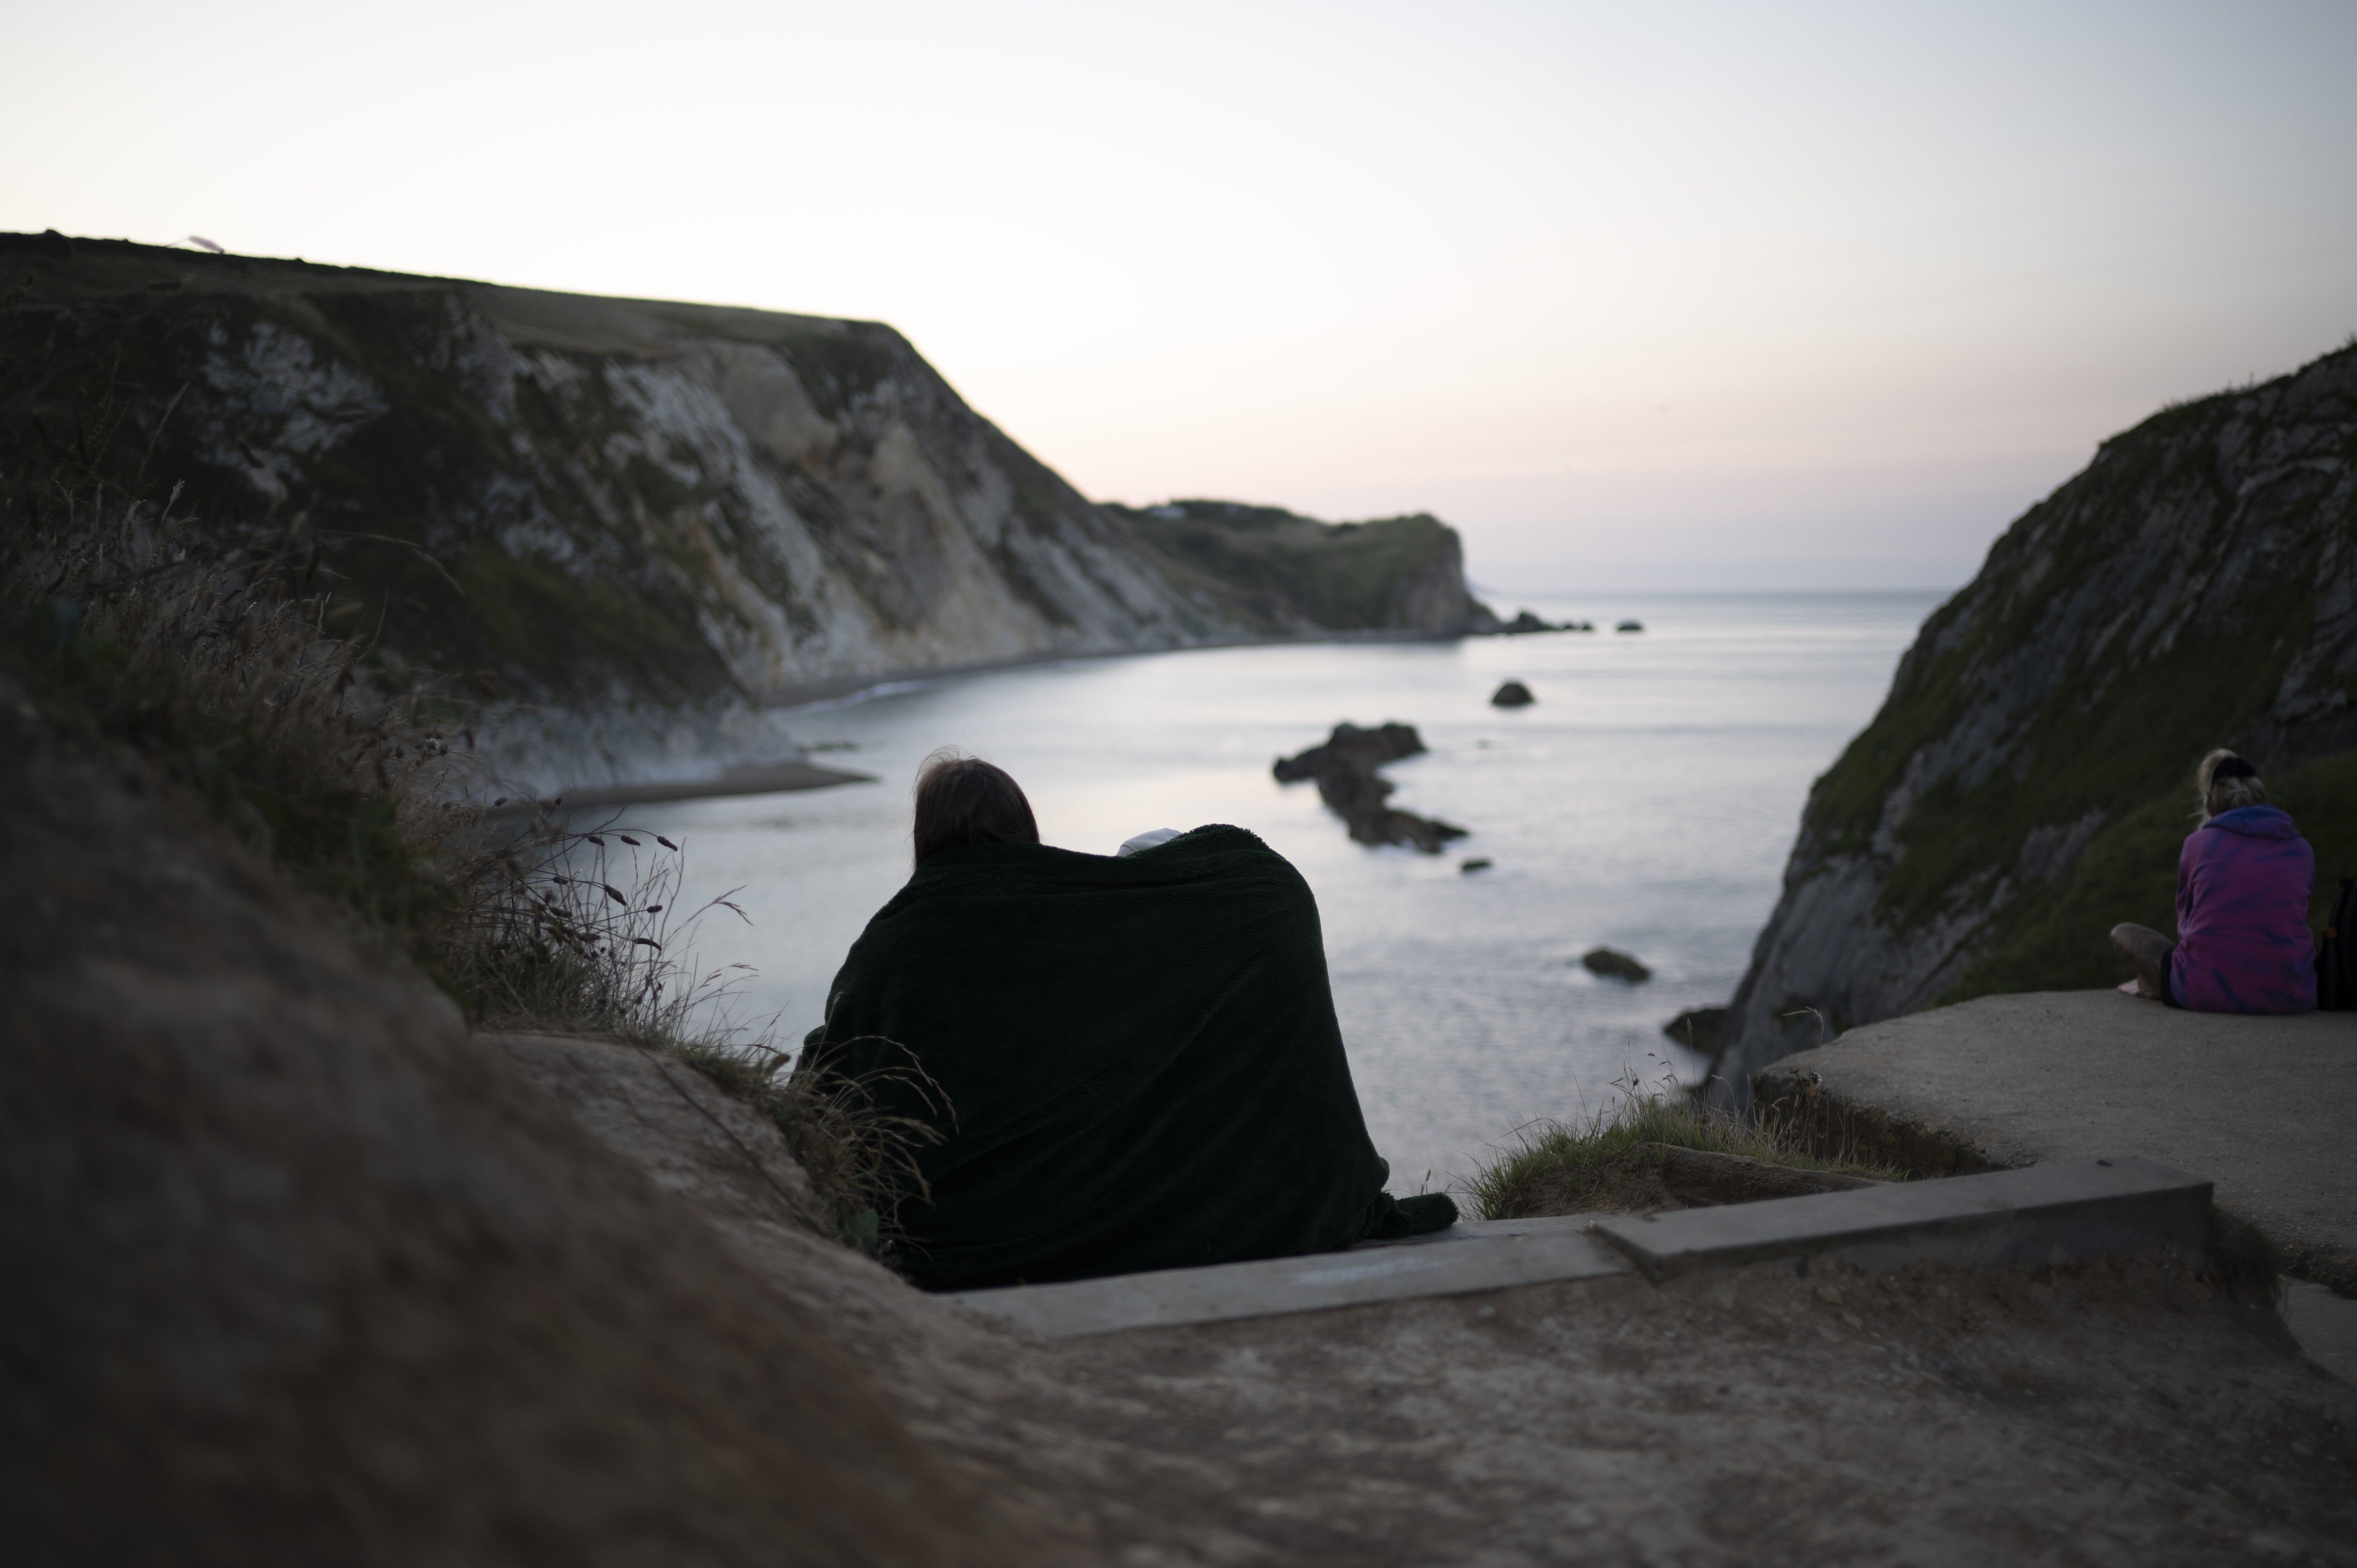
[[[1864,1269],[2060,1264],[2209,1240],[2211,1184],[2140,1158],[2069,1160],[1716,1210],[1607,1214],[1596,1233],[1659,1283],[1697,1269],[1841,1257]]]

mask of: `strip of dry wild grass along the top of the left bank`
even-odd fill
[[[0,476],[0,660],[45,717],[141,755],[476,1026],[603,1035],[705,1073],[778,1125],[837,1238],[889,1252],[933,1134],[882,1113],[877,1080],[787,1073],[766,1030],[726,1019],[745,967],[698,971],[688,946],[707,915],[745,913],[728,896],[681,913],[684,854],[655,835],[552,816],[493,835],[462,802],[467,731],[434,722],[467,710],[370,660],[368,601],[325,540],[302,516],[198,526],[179,488],[123,483],[101,457],[120,420],[108,389],[52,472]]]

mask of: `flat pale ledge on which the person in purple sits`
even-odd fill
[[[1763,1068],[2018,1167],[2140,1153],[2216,1181],[2291,1273],[2357,1294],[2357,1014],[2194,1014],[2117,990],[1978,997]]]

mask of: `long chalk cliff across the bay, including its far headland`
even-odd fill
[[[891,672],[1478,622],[1428,519],[1346,552],[1414,578],[1372,620],[1230,585],[879,323],[54,233],[0,278],[9,476],[193,476],[207,526],[316,540],[379,670],[460,677],[526,776],[759,750],[764,703]]]

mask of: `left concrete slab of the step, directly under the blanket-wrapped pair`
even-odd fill
[[[1520,1231],[1459,1238],[1466,1245],[1358,1247],[1065,1285],[966,1290],[950,1299],[1049,1339],[1072,1339],[1629,1273],[1624,1257],[1584,1233],[1586,1217],[1546,1228],[1520,1224]]]

